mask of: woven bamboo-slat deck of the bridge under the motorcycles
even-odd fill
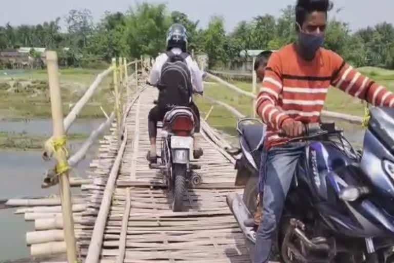
[[[156,96],[154,88],[146,88],[128,112],[127,143],[106,224],[102,258],[115,261],[124,247],[123,262],[128,263],[249,262],[244,237],[226,204],[226,195],[238,191],[232,187],[234,164],[205,133],[196,137],[204,149],[204,156],[198,160],[202,169],[197,171],[203,183],[185,195],[185,212],[172,212],[171,195],[160,187],[165,183],[163,176],[148,167],[145,157],[149,149],[147,114]],[[111,148],[112,143],[106,145]],[[104,159],[99,159],[93,172],[100,179],[108,173],[115,151],[102,155]],[[89,189],[94,200],[102,195],[102,184]],[[120,240],[125,211],[129,214],[127,235]],[[88,235],[80,239],[83,256],[89,243]]]

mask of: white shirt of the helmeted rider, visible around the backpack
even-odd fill
[[[182,50],[180,48],[172,48],[171,52],[174,54],[181,54]],[[163,64],[167,61],[168,56],[166,53],[160,54],[155,60],[152,66],[152,70],[149,74],[149,82],[152,85],[156,85],[157,82],[160,80],[160,75],[162,71]],[[193,90],[196,92],[203,92],[204,91],[204,84],[203,84],[203,74],[204,72],[200,70],[199,65],[191,58],[189,55],[186,58],[186,64],[190,70],[191,76],[191,84],[193,86]]]

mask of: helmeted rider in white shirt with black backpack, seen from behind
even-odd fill
[[[204,90],[204,85],[203,85],[204,72],[200,70],[198,64],[193,60],[190,53],[188,53],[187,44],[188,44],[188,36],[187,36],[186,28],[181,24],[173,24],[168,29],[167,40],[166,40],[166,52],[160,54],[155,59],[149,75],[149,83],[153,86],[157,86],[157,88],[159,88],[160,90],[159,100],[158,100],[159,103],[149,111],[149,115],[148,115],[150,151],[147,154],[147,159],[151,163],[157,162],[157,156],[156,156],[157,122],[163,121],[166,112],[170,109],[170,106],[168,105],[173,106],[174,104],[175,105],[179,104],[176,103],[176,101],[180,101],[180,98],[168,98],[170,97],[169,94],[171,94],[171,96],[174,97],[173,96],[174,93],[171,93],[169,89],[175,88],[174,86],[179,86],[180,80],[171,80],[171,76],[169,76],[169,74],[167,74],[168,77],[164,76],[164,73],[167,73],[170,70],[163,70],[164,67],[166,67],[167,65],[171,65],[170,63],[168,63],[168,61],[172,61],[173,58],[175,58],[175,60],[173,61],[180,60],[184,62],[184,64],[181,65],[182,66],[184,65],[185,69],[187,69],[187,70],[180,69],[179,72],[180,75],[177,76],[184,76],[185,80],[181,80],[181,83],[190,86],[190,88],[185,87],[186,89],[189,89],[190,92],[188,93],[187,96],[188,100],[185,101],[185,99],[183,99],[184,105],[187,105],[193,110],[196,116],[196,124],[194,128],[194,132],[195,133],[200,132],[200,112],[198,107],[191,100],[191,93],[195,92],[195,93],[200,93],[202,95]],[[180,67],[175,67],[175,68],[180,68]],[[175,81],[176,84],[174,85],[168,84],[171,81]],[[168,103],[167,100],[171,100],[171,103]],[[180,105],[183,105],[183,103]],[[197,140],[194,140],[193,156],[195,159],[198,159],[203,155],[203,151],[202,148],[196,145],[197,144],[196,141]]]

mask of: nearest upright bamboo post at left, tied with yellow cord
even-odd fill
[[[47,51],[48,82],[51,98],[51,111],[53,119],[53,140],[61,140],[65,136],[63,124],[62,96],[60,92],[59,79],[57,75],[57,54],[54,51]],[[64,151],[55,152],[57,163],[67,163],[67,156]],[[59,178],[60,198],[62,202],[62,214],[64,225],[64,239],[67,247],[68,263],[77,261],[74,219],[71,209],[71,192],[68,172],[60,175]]]

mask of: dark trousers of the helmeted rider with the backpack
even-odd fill
[[[195,120],[195,127],[194,132],[200,133],[200,111],[197,105],[194,102],[190,102],[189,107],[194,112],[194,115],[197,117]],[[167,111],[170,109],[161,108],[159,106],[154,106],[148,115],[148,133],[149,138],[156,138],[157,136],[157,122],[163,121],[164,116],[166,115]]]

